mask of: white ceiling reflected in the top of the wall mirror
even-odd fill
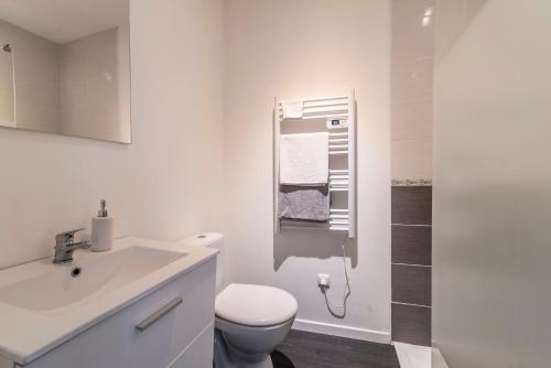
[[[0,0],[0,19],[56,43],[128,22],[129,0]]]

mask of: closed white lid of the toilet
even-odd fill
[[[284,290],[233,283],[216,296],[216,315],[247,326],[270,326],[291,320],[299,304]]]

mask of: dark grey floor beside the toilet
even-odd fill
[[[391,345],[295,329],[278,349],[295,368],[400,368]]]

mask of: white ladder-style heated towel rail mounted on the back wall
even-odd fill
[[[342,192],[346,195],[346,206],[329,208],[327,223],[311,223],[280,219],[278,216],[279,193],[279,139],[283,118],[282,104],[302,102],[302,121],[328,118],[346,119],[347,127],[328,130],[329,136],[329,195]],[[324,125],[325,126],[325,125]],[[346,166],[332,167],[331,156],[345,156]],[[314,99],[280,100],[276,98],[273,109],[273,208],[274,232],[282,226],[327,228],[329,230],[347,231],[348,238],[356,237],[356,100],[354,90],[347,96],[336,96]]]

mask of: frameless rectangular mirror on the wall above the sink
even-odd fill
[[[129,0],[0,0],[0,127],[130,143]]]

